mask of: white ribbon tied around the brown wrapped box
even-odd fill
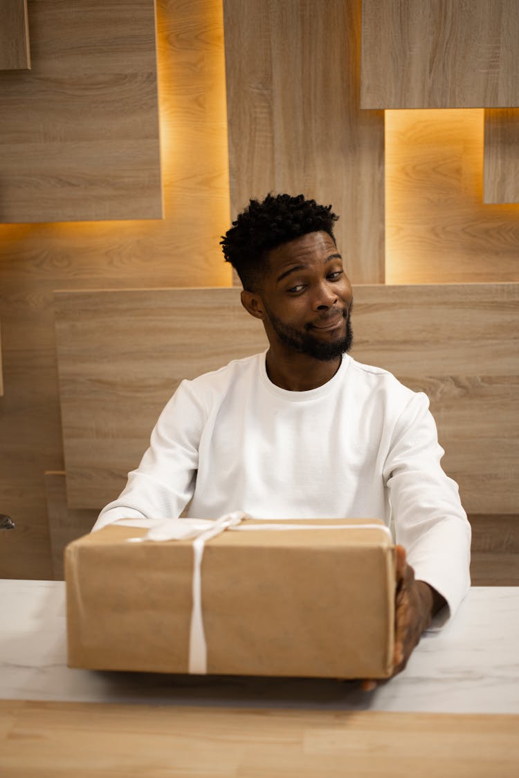
[[[202,557],[205,543],[226,530],[343,530],[343,529],[377,529],[387,533],[391,531],[385,524],[279,524],[271,520],[263,520],[261,524],[240,524],[244,519],[250,519],[247,513],[235,511],[226,513],[216,520],[209,519],[119,519],[114,524],[123,527],[149,527],[142,538],[128,538],[130,543],[144,541],[193,540],[193,582],[191,627],[189,632],[188,672],[205,675],[207,673],[207,643],[205,642],[204,619],[202,615]]]

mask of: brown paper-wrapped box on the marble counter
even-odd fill
[[[280,521],[338,528],[227,530],[208,541],[208,673],[387,678],[395,552],[382,522]],[[340,528],[360,523],[380,529]],[[128,542],[144,534],[112,525],[67,546],[69,666],[188,672],[192,541]]]

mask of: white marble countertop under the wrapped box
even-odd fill
[[[177,706],[519,713],[519,587],[473,587],[407,668],[358,682],[86,671],[66,666],[65,584],[0,580],[0,698]]]

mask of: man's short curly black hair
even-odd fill
[[[338,216],[331,205],[318,205],[304,195],[272,195],[262,202],[251,200],[230,230],[222,236],[223,256],[249,292],[258,292],[268,269],[268,251],[301,235],[323,231],[334,240]]]

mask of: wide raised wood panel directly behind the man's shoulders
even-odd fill
[[[516,512],[519,286],[354,293],[353,356],[429,395],[465,508]],[[117,496],[181,378],[266,344],[237,289],[58,292],[55,307],[68,504],[77,508]]]

